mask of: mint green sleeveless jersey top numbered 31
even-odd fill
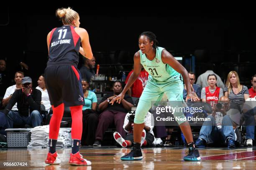
[[[169,64],[164,64],[161,59],[163,47],[156,47],[156,57],[153,60],[148,60],[146,54],[140,50],[141,65],[148,72],[148,80],[157,80],[160,82],[167,81],[175,75],[180,75]]]

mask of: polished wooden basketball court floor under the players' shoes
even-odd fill
[[[203,148],[199,149],[200,162],[185,162],[187,148],[144,148],[143,160],[121,161],[120,157],[130,152],[131,148],[101,147],[80,149],[84,158],[92,162],[91,166],[70,166],[71,148],[59,149],[59,165],[46,165],[44,160],[48,149],[8,148],[0,149],[0,170],[238,170],[256,169],[256,147],[253,148]],[[4,166],[13,163],[13,166]],[[15,164],[16,163],[16,166]],[[17,165],[17,163],[19,163]],[[27,164],[21,166],[20,163]]]

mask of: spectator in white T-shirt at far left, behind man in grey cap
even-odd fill
[[[3,97],[3,106],[6,106],[8,104],[8,102],[9,102],[10,98],[12,97],[12,94],[15,92],[15,90],[22,88],[21,80],[23,77],[24,77],[23,72],[21,72],[21,71],[15,72],[15,77],[14,77],[15,85],[12,85],[6,89],[5,96]],[[15,110],[15,111],[18,110],[17,103],[15,103],[12,110]]]

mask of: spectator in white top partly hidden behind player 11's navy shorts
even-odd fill
[[[42,93],[41,105],[44,105],[45,111],[49,112],[51,109],[51,103],[45,85],[44,74],[40,75],[40,77],[37,80],[37,84],[38,86],[36,87],[36,89],[40,90]]]

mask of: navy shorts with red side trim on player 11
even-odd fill
[[[51,105],[84,105],[81,75],[74,65],[48,65],[45,82]]]

